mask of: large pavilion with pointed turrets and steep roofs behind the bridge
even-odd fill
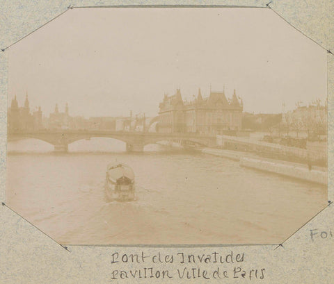
[[[241,130],[243,103],[237,94],[228,101],[225,92],[211,92],[202,98],[200,89],[196,99],[185,102],[180,89],[173,96],[166,94],[159,105],[160,133],[200,133],[216,135],[224,131]]]

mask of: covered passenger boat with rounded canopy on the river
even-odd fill
[[[109,164],[106,167],[106,197],[111,201],[132,201],[134,194],[134,171],[123,163]]]

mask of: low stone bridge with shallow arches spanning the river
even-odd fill
[[[58,130],[58,131],[17,131],[8,132],[8,141],[24,138],[34,138],[54,145],[55,151],[67,151],[68,144],[82,139],[92,137],[106,137],[120,140],[127,144],[127,151],[141,152],[147,144],[159,141],[177,141],[180,143],[191,142],[203,147],[216,145],[216,136],[200,135],[196,133],[149,133],[134,131],[79,131],[79,130]]]

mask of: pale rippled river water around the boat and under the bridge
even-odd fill
[[[324,186],[202,153],[148,145],[129,154],[97,138],[52,150],[8,143],[6,202],[61,244],[277,244],[327,203]],[[136,201],[104,196],[115,160],[134,169]]]

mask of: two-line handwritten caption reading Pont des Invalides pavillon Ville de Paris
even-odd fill
[[[140,253],[120,253],[111,255],[111,280],[139,278],[176,278],[176,279],[226,279],[244,278],[248,280],[265,278],[266,269],[261,267],[245,268],[244,253],[192,254],[178,252],[151,255]],[[121,268],[120,268],[121,267]]]

